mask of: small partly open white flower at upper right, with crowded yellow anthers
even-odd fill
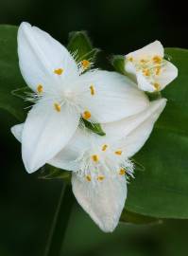
[[[174,64],[163,59],[163,46],[155,41],[126,55],[126,71],[136,78],[138,87],[147,92],[161,91],[178,76]]]

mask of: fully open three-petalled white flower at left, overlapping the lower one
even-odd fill
[[[64,46],[49,34],[22,23],[18,31],[22,75],[34,91],[23,131],[22,156],[28,173],[57,155],[77,130],[80,116],[110,122],[136,114],[148,105],[136,85],[114,72],[83,71]]]

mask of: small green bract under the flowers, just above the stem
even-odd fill
[[[39,175],[39,178],[42,178],[42,179],[67,179],[67,180],[70,180],[71,172],[68,172],[66,170],[61,170],[59,168],[56,168],[56,167],[51,166],[49,164],[46,164],[41,169],[41,174]]]

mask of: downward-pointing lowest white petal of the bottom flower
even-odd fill
[[[98,184],[73,174],[73,192],[77,202],[105,232],[116,228],[127,197],[125,176],[105,178]]]

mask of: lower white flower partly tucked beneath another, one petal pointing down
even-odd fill
[[[118,224],[127,197],[127,175],[132,175],[129,157],[145,144],[166,100],[152,101],[141,113],[103,124],[106,137],[83,129],[49,164],[73,171],[73,192],[78,203],[100,229],[110,232]],[[11,131],[22,141],[24,124]],[[151,149],[152,150],[152,149]]]

